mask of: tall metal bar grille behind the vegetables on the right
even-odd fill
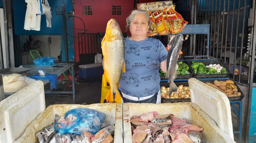
[[[246,66],[248,58],[243,55],[247,52],[248,46],[247,33],[250,27],[247,26],[246,20],[249,18],[250,2],[248,0],[192,0],[190,2],[175,1],[175,10],[182,13],[181,11],[188,6],[191,8],[189,24],[210,24],[209,56],[222,58],[232,74],[230,78],[246,84],[248,76],[241,74],[248,73]],[[186,17],[186,19],[189,18]],[[189,53],[186,55],[205,55],[206,36],[191,35],[190,38],[190,48],[187,49]]]

